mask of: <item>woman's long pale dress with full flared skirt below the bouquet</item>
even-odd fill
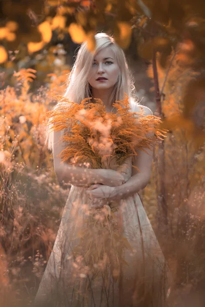
[[[71,186],[35,305],[165,306],[169,270],[138,193],[94,212],[86,190]]]

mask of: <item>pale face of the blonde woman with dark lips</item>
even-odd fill
[[[119,66],[111,48],[107,47],[97,53],[91,69],[89,83],[96,90],[114,87],[119,75]]]

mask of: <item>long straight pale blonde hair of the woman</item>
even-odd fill
[[[119,66],[119,78],[114,86],[111,103],[115,100],[121,100],[126,93],[130,97],[130,101],[135,100],[135,86],[131,72],[128,67],[124,51],[117,45],[114,38],[106,33],[95,34],[96,47],[92,53],[87,49],[87,42],[81,44],[75,63],[67,79],[67,89],[64,94],[70,101],[80,103],[83,99],[92,97],[89,85],[89,76],[94,56],[101,50],[109,47],[112,49],[117,64]],[[59,102],[60,103],[60,102]],[[58,107],[58,103],[54,107]],[[53,150],[53,131],[50,131],[52,125],[49,125],[46,131],[46,141],[48,148]]]

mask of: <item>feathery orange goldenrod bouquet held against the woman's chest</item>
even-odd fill
[[[113,103],[116,113],[107,113],[100,99],[87,98],[80,104],[62,96],[57,99],[57,107],[46,116],[53,130],[64,130],[62,141],[69,146],[59,155],[63,162],[110,168],[114,160],[119,166],[137,155],[137,149],[151,149],[157,139],[165,137],[158,117],[144,116],[142,108],[139,113],[130,112],[128,96]]]

